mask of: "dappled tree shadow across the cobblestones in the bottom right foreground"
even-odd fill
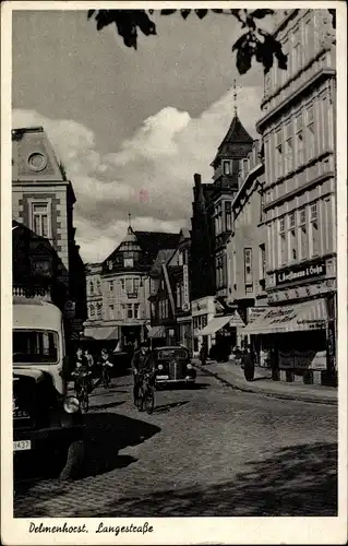
[[[236,479],[121,498],[103,514],[79,510],[75,517],[309,517],[337,515],[337,444],[280,449],[265,461],[245,462]]]

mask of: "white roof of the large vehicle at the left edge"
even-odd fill
[[[62,313],[58,307],[48,301],[13,298],[13,328],[40,329],[59,331],[62,323]]]

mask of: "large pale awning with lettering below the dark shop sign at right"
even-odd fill
[[[326,321],[326,304],[323,298],[320,298],[291,306],[259,309],[254,320],[249,321],[242,333],[273,334],[317,330],[325,328]]]

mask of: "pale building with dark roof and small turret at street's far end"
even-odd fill
[[[160,249],[178,245],[178,234],[133,232],[100,264],[87,264],[85,335],[140,343],[151,325],[148,274]]]

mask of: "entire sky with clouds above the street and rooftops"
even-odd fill
[[[157,36],[134,51],[113,28],[97,33],[85,11],[13,14],[12,127],[43,126],[64,163],[84,261],[121,241],[129,210],[135,229],[190,225],[193,174],[211,181],[233,78],[239,117],[256,136],[263,74],[238,75],[235,20],[155,21]]]

